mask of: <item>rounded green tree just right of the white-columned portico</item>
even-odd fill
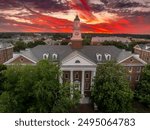
[[[133,92],[126,70],[113,61],[97,66],[92,99],[102,112],[129,112]]]

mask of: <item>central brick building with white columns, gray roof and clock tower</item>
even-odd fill
[[[133,89],[140,78],[142,68],[146,65],[139,55],[115,46],[83,46],[78,16],[74,20],[70,45],[39,45],[14,54],[14,57],[5,64],[36,64],[41,59],[58,62],[62,71],[60,82],[74,84],[80,90],[83,99],[90,96],[98,64],[114,60],[126,67]]]

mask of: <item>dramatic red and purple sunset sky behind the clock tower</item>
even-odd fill
[[[0,32],[150,34],[150,0],[0,0]]]

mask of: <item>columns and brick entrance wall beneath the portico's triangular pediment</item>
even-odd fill
[[[82,98],[90,97],[90,90],[95,76],[95,67],[63,67],[62,82],[70,82],[81,92]]]

